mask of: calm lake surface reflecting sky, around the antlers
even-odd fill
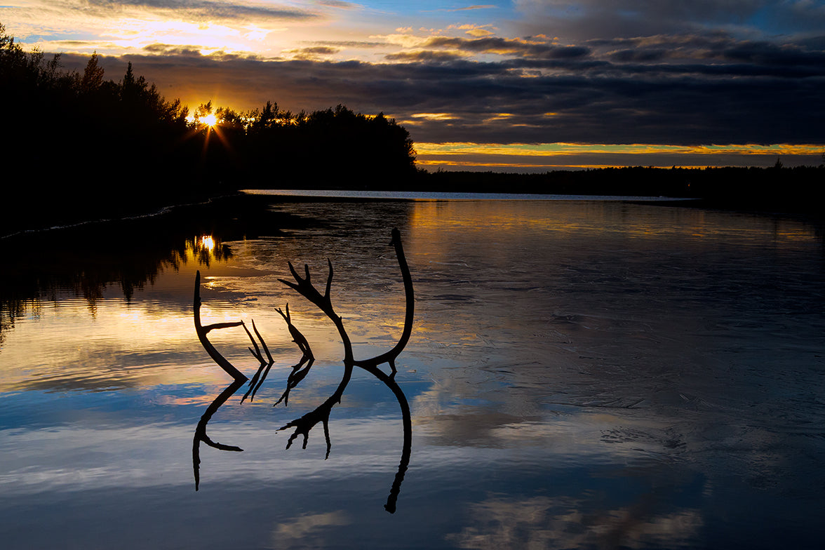
[[[224,212],[0,245],[3,548],[820,548],[813,226],[603,201],[271,200],[254,230]],[[389,514],[402,414],[371,374],[332,408],[328,459],[321,425],[285,449],[278,428],[335,390],[342,349],[278,279],[308,263],[323,289],[329,259],[356,358],[378,355],[403,326],[392,228],[416,317],[395,378],[412,456]],[[204,322],[254,319],[275,360],[254,401],[244,388],[212,416],[210,437],[243,452],[201,444],[199,491],[192,438],[231,378],[196,337],[196,270]],[[301,355],[287,303],[316,362],[273,407]],[[210,339],[256,371],[242,328]]]

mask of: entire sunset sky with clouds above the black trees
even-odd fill
[[[825,153],[822,0],[0,0],[0,23],[191,107],[383,111],[429,170]]]

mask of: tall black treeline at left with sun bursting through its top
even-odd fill
[[[82,73],[26,52],[0,25],[3,190],[9,228],[139,214],[247,186],[342,186],[413,176],[409,133],[345,106],[293,114],[267,102],[239,113],[190,110],[134,73],[106,80],[93,54]],[[218,125],[208,124],[214,119]]]

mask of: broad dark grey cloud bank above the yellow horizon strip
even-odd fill
[[[587,43],[578,54],[540,44],[496,62],[460,57],[519,40],[432,40],[444,50],[391,54],[398,63],[313,59],[231,62],[186,46],[102,60],[119,77],[127,60],[168,98],[212,99],[241,110],[277,101],[290,110],[338,103],[403,120],[420,142],[823,143],[825,51],[815,40],[780,44],[723,35],[658,35]],[[448,49],[452,48],[452,49]],[[328,54],[314,46],[306,54]],[[168,55],[172,54],[172,55]],[[85,59],[66,56],[82,69]],[[441,120],[414,117],[443,114]]]

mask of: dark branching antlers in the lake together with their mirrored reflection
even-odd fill
[[[392,487],[389,491],[389,497],[387,498],[387,503],[384,505],[384,508],[389,511],[389,513],[395,512],[395,505],[396,501],[398,500],[398,493],[401,491],[401,482],[403,482],[404,473],[407,472],[407,468],[409,465],[410,454],[412,451],[412,439],[413,439],[413,427],[412,421],[410,418],[410,409],[409,404],[407,402],[407,397],[404,396],[403,391],[398,386],[398,383],[395,382],[395,360],[398,358],[398,355],[404,349],[404,346],[407,345],[409,341],[410,334],[413,331],[413,317],[414,317],[414,294],[413,294],[413,278],[410,275],[409,266],[407,265],[407,260],[404,256],[403,247],[401,244],[401,233],[398,232],[398,229],[393,229],[392,231],[392,240],[390,242],[395,248],[395,255],[398,259],[398,266],[401,269],[401,275],[403,277],[404,283],[404,294],[405,294],[405,314],[404,314],[404,327],[398,342],[393,347],[393,349],[386,351],[380,355],[375,355],[375,357],[371,357],[365,360],[356,360],[353,351],[352,351],[352,343],[350,341],[350,337],[347,335],[347,330],[344,327],[342,317],[339,317],[335,310],[332,308],[332,299],[330,299],[330,289],[332,287],[332,262],[328,262],[329,272],[327,275],[327,282],[326,288],[324,289],[323,294],[321,294],[318,289],[315,288],[315,285],[312,283],[311,275],[309,273],[309,266],[304,265],[304,277],[299,275],[298,271],[295,270],[295,267],[292,266],[290,262],[290,273],[293,276],[293,280],[285,280],[280,279],[280,281],[291,289],[294,289],[298,292],[301,296],[305,299],[308,299],[309,302],[314,303],[328,318],[332,323],[335,325],[338,331],[338,336],[341,337],[343,346],[344,346],[344,370],[342,373],[341,381],[338,383],[337,388],[335,391],[327,397],[327,399],[322,402],[318,407],[316,407],[313,411],[309,411],[304,416],[300,416],[293,421],[290,421],[286,425],[281,426],[278,430],[288,430],[290,428],[294,428],[295,431],[290,435],[290,439],[287,441],[286,449],[289,449],[292,446],[292,443],[297,439],[299,435],[303,436],[304,444],[303,448],[306,449],[307,442],[309,440],[309,432],[316,426],[318,423],[323,424],[323,433],[324,438],[327,441],[327,454],[326,458],[329,457],[330,450],[332,449],[332,443],[329,438],[329,415],[332,411],[332,407],[335,407],[337,403],[341,402],[343,394],[347,389],[347,384],[350,382],[352,370],[357,366],[361,369],[364,369],[366,372],[378,378],[381,383],[389,388],[389,390],[394,394],[395,398],[398,400],[398,406],[401,408],[401,415],[402,415],[402,423],[403,423],[403,449],[401,452],[401,462],[398,464],[398,472],[395,474],[395,479],[393,482]],[[209,436],[206,434],[206,425],[209,423],[211,417],[214,415],[214,412],[221,407],[224,402],[226,402],[229,397],[231,397],[234,393],[238,391],[241,387],[243,387],[244,383],[249,382],[249,389],[247,393],[241,399],[243,402],[247,397],[250,398],[250,401],[254,399],[255,393],[257,389],[261,387],[262,383],[266,379],[266,375],[269,374],[269,371],[272,367],[272,364],[275,361],[272,359],[272,356],[269,352],[269,348],[266,346],[266,342],[262,338],[261,334],[257,331],[255,327],[255,322],[252,322],[252,332],[254,332],[254,336],[252,332],[249,331],[246,324],[243,321],[238,322],[223,322],[223,323],[214,323],[211,325],[203,326],[200,322],[200,271],[197,272],[195,277],[195,330],[200,340],[200,343],[204,346],[206,352],[210,355],[212,360],[214,360],[215,364],[221,369],[224,369],[227,374],[229,374],[233,378],[233,383],[231,383],[223,392],[219,394],[218,397],[215,397],[214,401],[210,404],[209,407],[206,408],[203,416],[200,417],[200,421],[195,430],[195,437],[192,442],[192,464],[195,472],[195,490],[198,490],[200,485],[200,442],[203,441],[205,444],[209,445],[210,447],[214,447],[214,449],[220,450],[227,450],[227,451],[243,451],[243,449],[233,446],[233,445],[226,445],[220,444],[215,441],[210,440]],[[289,305],[286,306],[285,311],[282,311],[281,308],[276,310],[278,313],[281,314],[281,317],[284,317],[286,322],[287,328],[290,331],[290,336],[292,336],[295,345],[298,346],[299,350],[301,351],[301,358],[295,366],[292,367],[292,372],[290,373],[289,378],[287,379],[286,389],[284,393],[281,395],[281,398],[275,403],[278,405],[281,402],[284,402],[286,405],[289,400],[290,390],[295,388],[301,380],[303,380],[307,374],[309,374],[309,369],[312,368],[314,363],[314,355],[312,350],[309,346],[309,342],[306,340],[303,334],[292,324],[292,319],[290,317],[290,308]],[[247,332],[247,336],[249,336],[249,340],[252,342],[252,347],[249,348],[249,351],[252,355],[260,362],[260,367],[257,369],[257,372],[252,376],[252,380],[249,380],[247,376],[241,373],[238,369],[234,367],[233,364],[226,360],[223,355],[220,354],[218,350],[212,345],[207,337],[207,334],[210,331],[222,328],[231,328],[231,327],[243,327],[244,331]],[[258,342],[261,343],[261,346],[258,346]],[[263,351],[262,351],[263,350]],[[266,355],[266,359],[264,358]],[[389,364],[390,374],[384,373],[383,370],[379,369],[381,364]],[[304,366],[305,365],[305,366]]]

